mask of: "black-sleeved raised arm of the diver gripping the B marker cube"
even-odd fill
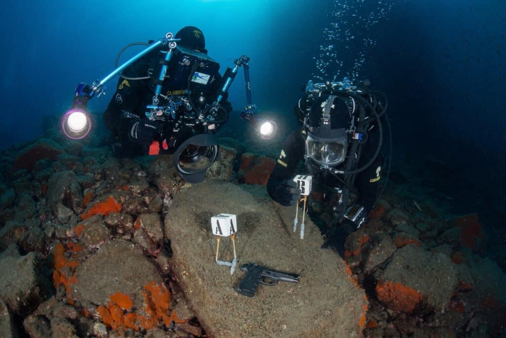
[[[304,139],[302,138],[301,131],[297,130],[291,133],[286,139],[281,154],[274,166],[274,170],[267,181],[267,192],[273,200],[279,203],[282,202],[279,200],[279,186],[284,180],[291,180],[293,178],[293,172],[303,157]]]

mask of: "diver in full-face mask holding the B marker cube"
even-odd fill
[[[336,222],[326,231],[322,247],[341,256],[346,238],[367,221],[378,197],[386,100],[383,93],[352,86],[347,78],[325,84],[309,81],[294,109],[302,127],[288,136],[267,183],[276,202],[298,203],[301,190],[293,174],[304,160],[307,174],[322,185]]]

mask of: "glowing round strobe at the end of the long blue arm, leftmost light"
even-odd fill
[[[80,83],[75,88],[72,107],[61,120],[62,131],[68,138],[81,139],[92,129],[92,120],[86,111],[90,91],[90,87],[85,83]]]

